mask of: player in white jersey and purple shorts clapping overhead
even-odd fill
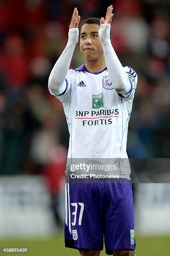
[[[78,42],[80,16],[75,8],[68,42],[49,77],[50,93],[64,106],[70,132],[70,159],[127,159],[128,121],[137,74],[122,67],[110,41],[112,5],[106,17],[85,20],[80,51],[85,65],[69,69]],[[103,236],[107,255],[135,255],[130,171],[124,182],[69,182],[65,185],[65,246],[81,256],[99,256]],[[124,179],[122,179],[124,178]]]

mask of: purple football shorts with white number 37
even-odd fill
[[[132,185],[128,179],[65,184],[65,247],[135,250]],[[118,180],[118,181],[117,181]],[[104,238],[104,239],[103,239]]]

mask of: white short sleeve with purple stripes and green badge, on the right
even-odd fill
[[[118,93],[118,95],[122,98],[127,98],[127,99],[132,99],[134,98],[135,95],[135,90],[136,90],[136,86],[137,86],[137,82],[138,82],[138,75],[136,74],[135,70],[131,67],[124,67],[125,72],[129,78],[130,84],[131,84],[131,88],[130,88],[130,92],[128,92],[127,94],[121,94]]]

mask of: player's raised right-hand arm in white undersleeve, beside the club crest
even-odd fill
[[[130,92],[131,84],[110,41],[110,24],[113,17],[112,10],[112,5],[110,5],[107,8],[105,19],[100,19],[99,37],[105,54],[107,70],[109,72],[110,79],[114,84],[115,90],[121,94],[126,94]]]

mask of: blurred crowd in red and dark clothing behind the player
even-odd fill
[[[170,2],[0,0],[0,173],[64,175],[69,134],[62,104],[47,90],[67,43],[74,7],[82,22],[113,5],[112,45],[138,73],[128,156],[170,157]],[[84,63],[76,46],[71,68]]]

